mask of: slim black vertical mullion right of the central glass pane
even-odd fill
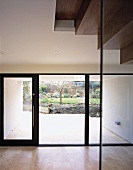
[[[85,75],[85,146],[89,142],[89,75]]]

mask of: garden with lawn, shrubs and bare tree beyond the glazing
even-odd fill
[[[89,82],[89,115],[99,117],[100,82]],[[23,82],[23,110],[31,111],[28,82]],[[40,81],[39,112],[42,114],[85,114],[84,81]]]

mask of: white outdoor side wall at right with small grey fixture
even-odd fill
[[[108,76],[109,78],[109,76]],[[103,126],[133,143],[133,76],[103,83]],[[121,125],[116,125],[120,121]]]

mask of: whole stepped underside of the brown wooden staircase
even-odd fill
[[[57,0],[56,20],[74,20],[77,35],[98,35],[100,0]],[[105,50],[120,49],[120,63],[133,60],[133,0],[104,0]]]

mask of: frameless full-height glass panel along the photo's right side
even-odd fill
[[[133,1],[103,4],[102,141],[128,145],[133,143]],[[132,147],[103,146],[102,169],[132,169],[131,152]]]

